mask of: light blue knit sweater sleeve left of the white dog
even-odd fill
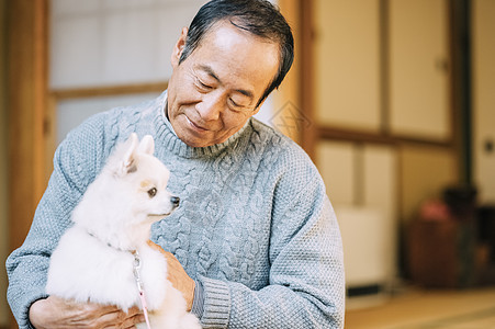
[[[94,178],[98,137],[93,131],[86,125],[69,134],[57,148],[54,171],[36,208],[30,232],[23,245],[7,260],[7,296],[19,328],[32,328],[29,309],[35,300],[47,297],[45,285],[52,251],[70,225],[72,208]]]

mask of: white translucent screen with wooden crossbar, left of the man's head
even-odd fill
[[[49,88],[55,94],[55,143],[91,114],[158,95],[156,88],[139,88],[136,93],[132,87],[166,86],[175,42],[204,2],[52,0]],[[131,87],[130,91],[119,91],[122,86]],[[69,97],[57,97],[67,90]]]

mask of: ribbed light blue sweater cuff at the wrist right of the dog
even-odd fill
[[[201,325],[203,328],[227,328],[230,316],[230,291],[227,283],[204,276],[200,281],[204,293]]]

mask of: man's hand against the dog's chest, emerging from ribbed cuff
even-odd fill
[[[158,250],[167,259],[168,263],[168,276],[167,279],[172,283],[173,287],[182,293],[185,299],[187,310],[190,311],[192,308],[192,302],[194,299],[194,288],[195,282],[192,280],[184,269],[177,260],[177,258],[168,251],[165,251],[160,246],[148,240],[149,247]]]

